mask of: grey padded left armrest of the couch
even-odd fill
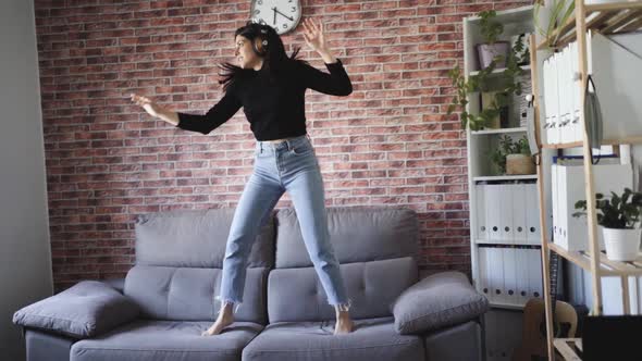
[[[74,338],[88,338],[133,321],[138,304],[112,286],[82,281],[13,314],[13,323]]]

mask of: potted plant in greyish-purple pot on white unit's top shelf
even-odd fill
[[[485,42],[477,45],[479,69],[487,67],[493,60],[497,61],[498,67],[506,66],[510,43],[508,41],[497,41],[497,37],[504,32],[504,25],[493,21],[497,16],[497,12],[484,10],[478,16],[481,17],[480,32],[485,40]]]

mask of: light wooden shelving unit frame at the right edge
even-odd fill
[[[568,149],[582,148],[583,164],[584,164],[584,185],[588,208],[589,222],[589,249],[588,252],[569,252],[547,239],[545,232],[542,232],[542,266],[544,275],[544,300],[546,302],[546,336],[548,344],[548,359],[556,360],[555,351],[564,357],[565,360],[581,360],[576,349],[581,350],[581,341],[577,338],[554,338],[553,336],[553,319],[551,309],[551,276],[548,271],[548,251],[554,251],[561,256],[569,262],[572,262],[583,270],[591,273],[591,285],[593,291],[592,314],[602,314],[602,276],[618,276],[621,279],[622,287],[622,307],[626,314],[630,313],[629,304],[629,284],[628,276],[642,276],[642,258],[634,262],[616,262],[606,258],[606,254],[600,251],[597,245],[597,217],[595,210],[595,191],[593,185],[593,167],[591,163],[591,152],[589,148],[588,135],[582,133],[582,141],[558,145],[546,145],[542,142],[541,127],[540,127],[540,87],[538,77],[538,50],[543,50],[546,45],[551,45],[553,49],[565,47],[570,41],[578,41],[578,62],[581,88],[587,87],[588,73],[588,57],[587,57],[587,38],[582,36],[587,34],[588,29],[600,32],[603,35],[628,33],[642,28],[642,1],[622,1],[617,3],[606,4],[584,4],[583,0],[576,1],[575,15],[571,16],[565,24],[563,24],[552,37],[559,34],[557,43],[551,45],[550,39],[543,39],[539,43],[535,36],[530,38],[531,49],[531,78],[533,79],[533,94],[535,107],[535,137],[540,150],[553,149]],[[581,103],[584,103],[584,94],[581,95]],[[604,120],[605,127],[608,126],[609,120]],[[583,107],[580,107],[580,122],[584,124]],[[621,139],[607,139],[603,145],[633,145],[642,144],[642,137],[629,137]],[[540,223],[542,229],[546,227],[546,203],[544,201],[544,162],[540,161],[538,165],[538,184],[540,194]]]

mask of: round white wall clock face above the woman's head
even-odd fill
[[[276,29],[279,34],[294,30],[301,18],[299,0],[251,0],[250,17]]]

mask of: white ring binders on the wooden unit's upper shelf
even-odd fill
[[[543,121],[545,144],[582,141],[580,123],[581,79],[578,70],[578,43],[570,42],[560,52],[544,60],[542,66]],[[600,100],[602,117],[608,123],[603,139],[613,140],[642,135],[642,102],[639,87],[642,73],[642,33],[604,36],[587,33],[588,73]],[[590,124],[589,124],[590,126]]]

